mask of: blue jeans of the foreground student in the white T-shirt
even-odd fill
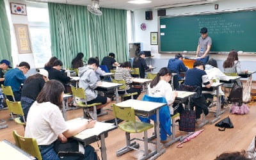
[[[54,143],[51,145],[41,145],[39,146],[42,159],[44,160],[59,160],[60,157],[56,154],[54,151]],[[61,159],[65,160],[75,160],[75,159],[81,159],[80,157],[75,156],[68,156]],[[84,147],[84,160],[97,160],[97,154],[94,152],[94,148],[90,145],[86,145]]]

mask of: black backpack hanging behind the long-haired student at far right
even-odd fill
[[[237,82],[234,83],[230,94],[228,96],[228,103],[238,103],[239,106],[243,103],[243,87],[239,86]]]

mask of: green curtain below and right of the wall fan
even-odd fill
[[[118,62],[127,61],[127,11],[100,8],[102,15],[89,13],[91,56],[100,60],[109,52],[116,54]]]

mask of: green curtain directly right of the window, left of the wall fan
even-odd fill
[[[83,52],[87,61],[90,41],[86,6],[48,3],[48,8],[52,56],[61,60],[65,67],[71,67],[78,52]]]

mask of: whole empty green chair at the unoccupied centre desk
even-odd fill
[[[115,116],[115,122],[119,129],[122,131],[125,131],[125,138],[126,138],[126,146],[124,148],[121,148],[120,150],[116,151],[116,156],[121,156],[122,154],[125,154],[126,152],[129,152],[130,150],[138,150],[139,152],[142,152],[144,156],[141,159],[148,159],[148,157],[152,156],[148,154],[148,135],[147,130],[154,127],[152,124],[148,124],[145,122],[137,121],[134,114],[134,109],[131,107],[120,107],[116,104],[113,104],[113,113]],[[124,120],[125,122],[122,124],[117,123],[117,118]],[[130,138],[131,133],[140,133],[144,132],[144,138]],[[136,142],[131,143],[131,141],[134,140],[140,140],[144,141],[144,150],[138,149],[139,144]]]

